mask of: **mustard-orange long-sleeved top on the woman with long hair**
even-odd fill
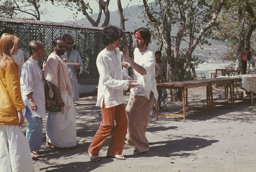
[[[0,124],[17,126],[17,111],[24,108],[15,63],[12,62],[9,66],[4,64],[0,67]]]

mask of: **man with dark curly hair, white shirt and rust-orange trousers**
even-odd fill
[[[102,121],[88,148],[88,155],[92,162],[101,162],[98,153],[113,129],[114,120],[116,126],[106,157],[126,159],[121,156],[127,130],[123,90],[135,87],[136,81],[122,70],[122,66],[130,67],[129,64],[121,63],[119,46],[123,36],[124,32],[115,26],[109,26],[102,30],[102,44],[105,48],[99,53],[96,60],[100,74],[96,106],[101,107]]]

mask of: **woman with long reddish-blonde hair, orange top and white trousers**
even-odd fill
[[[29,144],[19,128],[24,124],[19,82],[19,65],[12,58],[19,49],[17,36],[4,33],[0,38],[0,169],[35,171]]]

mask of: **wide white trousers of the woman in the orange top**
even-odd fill
[[[28,140],[21,127],[0,125],[0,159],[0,171],[35,171]]]

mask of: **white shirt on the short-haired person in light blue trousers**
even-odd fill
[[[44,76],[38,66],[38,61],[29,59],[21,68],[20,88],[22,100],[25,106],[28,106],[33,116],[45,117],[45,91],[44,91]],[[37,110],[32,110],[27,95],[32,93],[34,102],[37,105]],[[24,108],[25,114],[26,108]]]

